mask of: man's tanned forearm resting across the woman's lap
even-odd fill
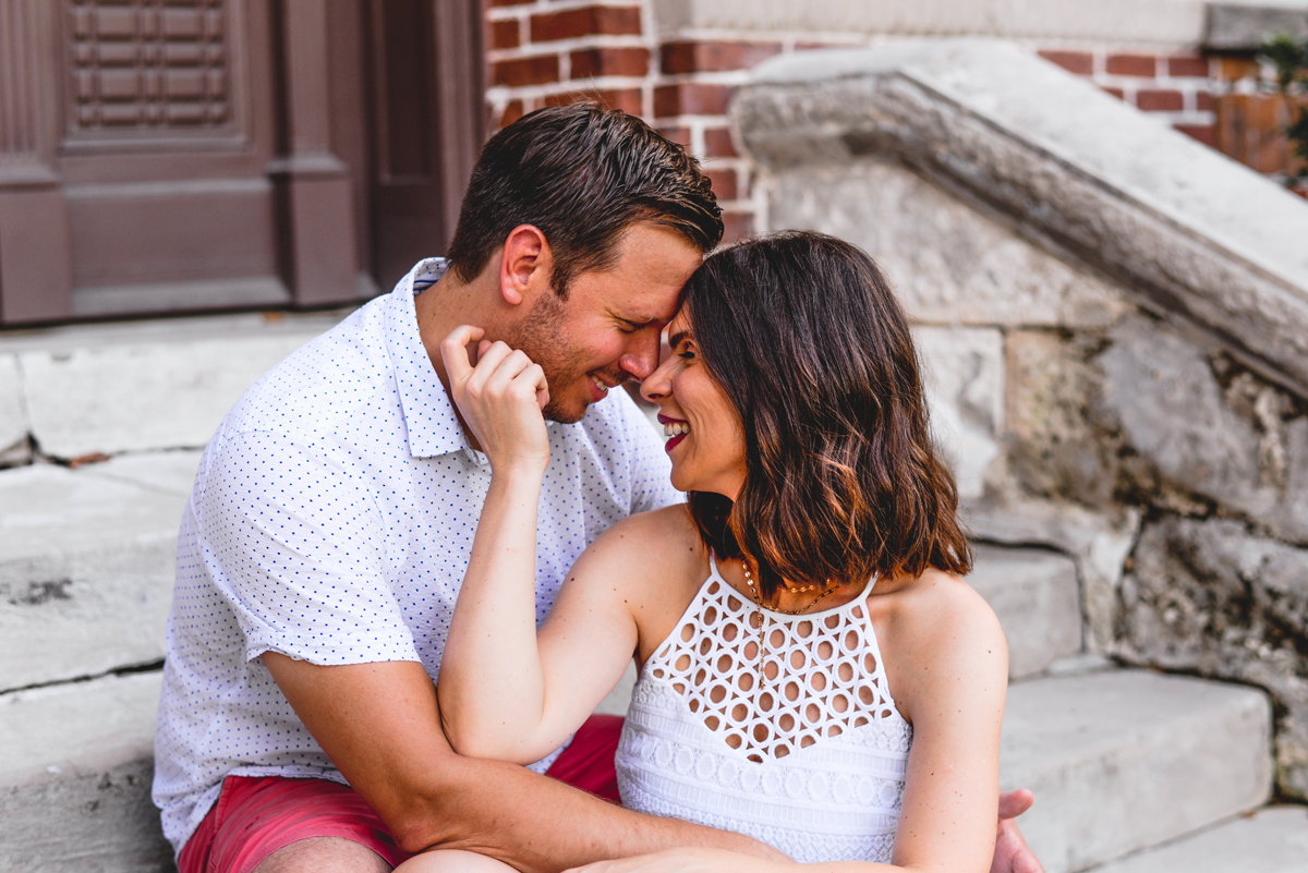
[[[740,834],[633,813],[556,779],[494,761],[445,758],[441,789],[392,823],[402,848],[462,848],[528,873],[702,846],[785,860]]]

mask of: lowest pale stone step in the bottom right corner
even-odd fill
[[[1308,808],[1267,806],[1093,873],[1308,873]]]

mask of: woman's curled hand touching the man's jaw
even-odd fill
[[[545,372],[526,353],[487,342],[481,328],[464,324],[441,342],[454,403],[492,469],[523,465],[543,470],[549,463],[549,436],[540,414],[549,401]],[[477,341],[473,366],[467,346]]]

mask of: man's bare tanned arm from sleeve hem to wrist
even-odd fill
[[[702,846],[783,860],[739,834],[641,815],[515,765],[462,758],[413,661],[319,667],[264,652],[296,715],[405,852],[462,848],[521,870]]]

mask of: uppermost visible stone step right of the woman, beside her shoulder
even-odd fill
[[[1033,676],[1080,652],[1080,589],[1071,558],[978,545],[968,582],[994,609],[1008,638],[1010,678]]]

